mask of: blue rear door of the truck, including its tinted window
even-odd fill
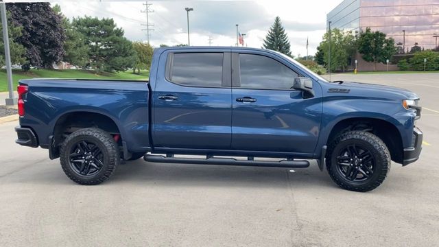
[[[155,147],[230,149],[229,51],[176,49],[161,56],[152,99]]]

